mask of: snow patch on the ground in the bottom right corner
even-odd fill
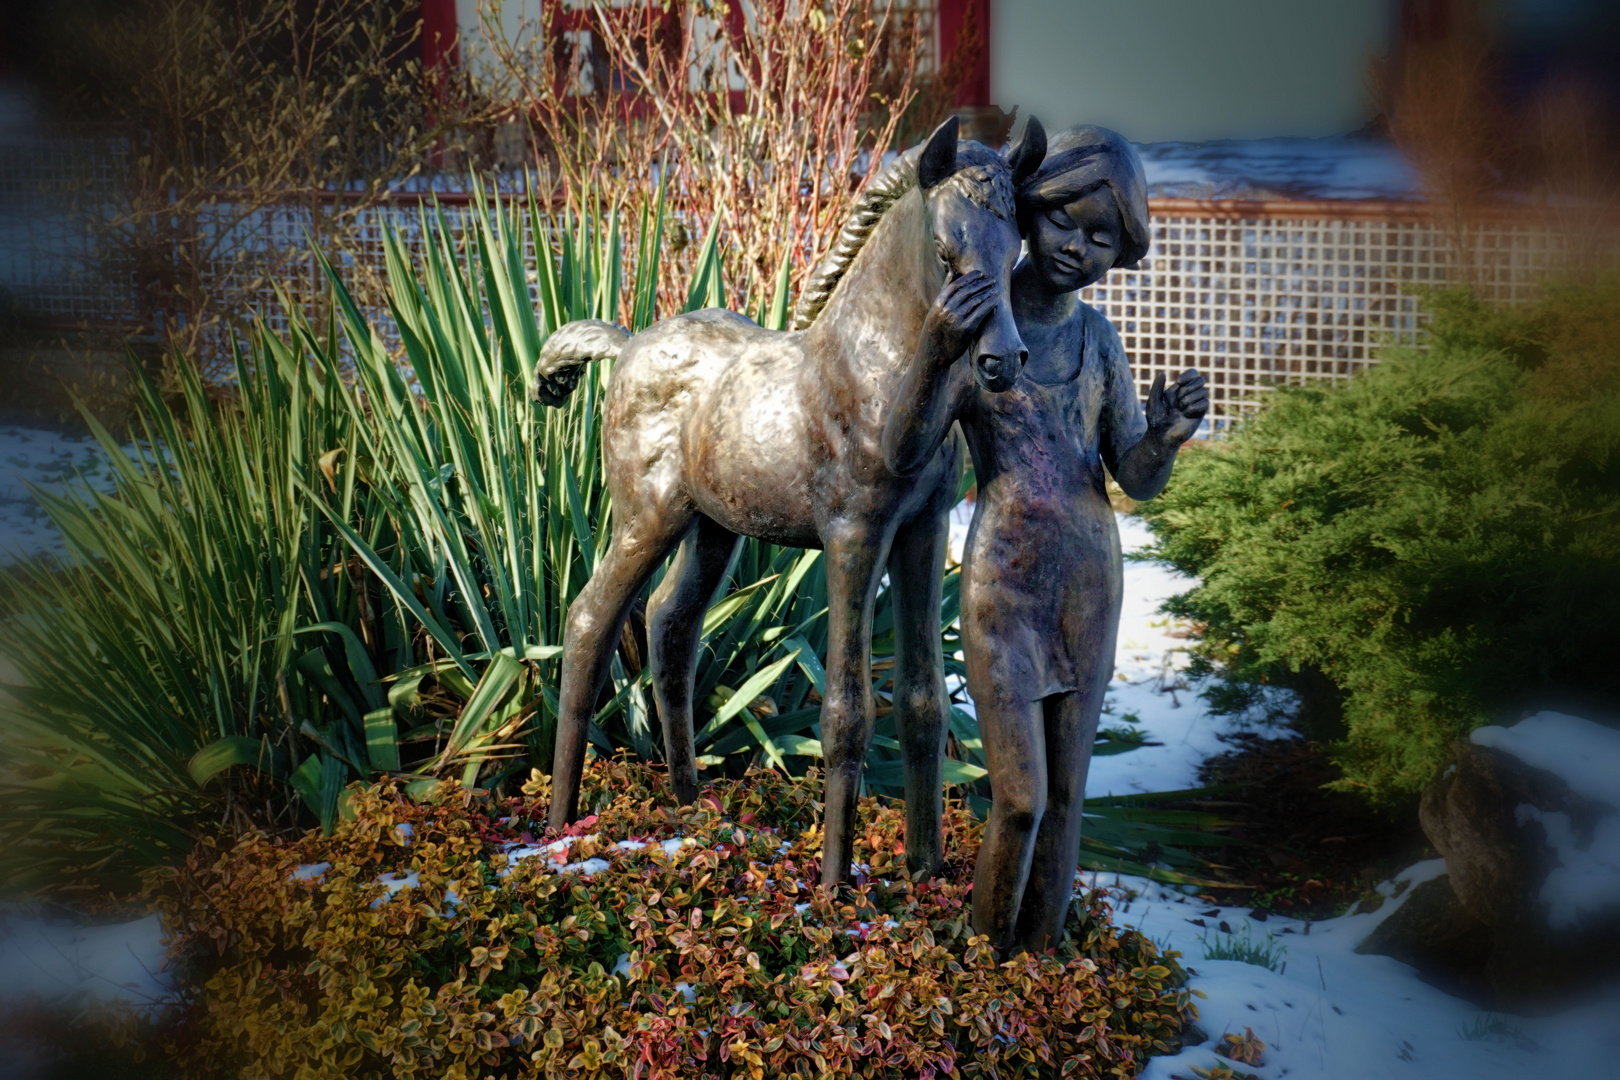
[[[1445,871],[1418,863],[1379,887],[1385,895]],[[1400,907],[1304,923],[1252,920],[1142,878],[1087,874],[1121,899],[1116,921],[1137,926],[1183,954],[1192,989],[1204,994],[1199,1027],[1209,1041],[1155,1057],[1144,1080],[1192,1080],[1192,1069],[1226,1064],[1262,1080],[1503,1080],[1521,1077],[1620,1077],[1620,983],[1552,1017],[1487,1014],[1421,981],[1390,957],[1358,955],[1356,946]],[[1200,925],[1202,923],[1202,925]],[[1221,925],[1231,933],[1223,933]],[[1233,942],[1268,950],[1278,970],[1243,960],[1209,960],[1207,947]],[[1265,1043],[1260,1065],[1217,1057],[1223,1035],[1252,1028]]]

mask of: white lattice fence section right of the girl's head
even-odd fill
[[[1406,287],[1458,279],[1450,236],[1401,206],[1155,199],[1152,223],[1142,267],[1081,296],[1118,327],[1144,398],[1158,372],[1204,372],[1215,427],[1264,387],[1343,382],[1377,345],[1416,343],[1424,314]],[[1533,295],[1563,248],[1557,228],[1515,220],[1469,241],[1476,283],[1503,301]]]

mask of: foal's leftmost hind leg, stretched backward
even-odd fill
[[[643,512],[624,525],[620,521],[616,510],[612,544],[569,606],[569,622],[562,631],[557,751],[551,764],[552,829],[561,829],[578,816],[585,737],[630,602],[685,531],[692,510]]]

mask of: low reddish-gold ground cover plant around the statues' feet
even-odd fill
[[[904,814],[868,798],[859,884],[807,886],[818,792],[753,772],[676,808],[601,759],[556,839],[543,782],[387,784],[330,836],[204,845],[152,879],[186,988],[167,1052],[188,1077],[1131,1077],[1179,1041],[1176,954],[1097,895],[1055,954],[996,963],[961,806],[940,879],[899,876]]]

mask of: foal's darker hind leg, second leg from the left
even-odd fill
[[[698,795],[697,751],[692,745],[692,678],[703,636],[703,612],[740,542],[742,538],[735,533],[698,515],[646,604],[653,696],[664,724],[669,784],[680,805]]]

